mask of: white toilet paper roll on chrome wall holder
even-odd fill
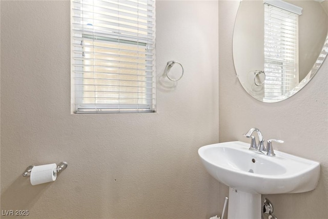
[[[57,178],[57,172],[55,172],[56,169],[56,164],[46,164],[33,167],[30,176],[32,186],[55,181]]]

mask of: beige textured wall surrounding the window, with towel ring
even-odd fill
[[[197,154],[218,142],[218,2],[156,7],[157,112],[72,115],[69,2],[1,1],[1,210],[33,219],[218,213],[219,184]],[[185,68],[178,83],[162,77],[170,60]],[[56,182],[22,176],[61,161],[69,166]]]

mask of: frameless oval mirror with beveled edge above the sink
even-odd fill
[[[233,58],[242,87],[266,103],[294,95],[328,53],[328,0],[240,2]]]

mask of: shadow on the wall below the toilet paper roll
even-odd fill
[[[50,186],[49,183],[32,186],[30,177],[18,176],[16,180],[1,193],[1,209],[4,210],[27,210]]]

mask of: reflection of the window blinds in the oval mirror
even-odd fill
[[[298,15],[264,4],[265,98],[289,92],[298,84]]]

